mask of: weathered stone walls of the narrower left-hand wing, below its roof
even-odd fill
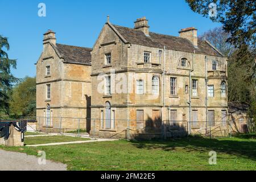
[[[44,44],[36,64],[37,128],[59,132],[75,131],[80,127],[89,131],[90,122],[86,118],[90,118],[91,66],[63,63],[52,46],[53,43]],[[46,75],[48,65],[51,75]],[[51,85],[50,99],[46,95],[47,84]],[[51,106],[51,126],[46,126],[45,122],[47,104]]]

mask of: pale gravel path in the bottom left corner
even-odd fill
[[[39,158],[19,152],[0,150],[0,171],[66,171],[67,165],[46,160],[38,164]]]

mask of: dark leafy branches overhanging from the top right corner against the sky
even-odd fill
[[[231,35],[228,38],[229,43],[236,48],[241,48],[243,45],[251,46],[255,53],[255,0],[186,0],[186,2],[194,12],[210,16],[214,22],[221,22],[225,32]]]

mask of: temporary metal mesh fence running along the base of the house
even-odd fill
[[[36,117],[38,131],[44,133],[90,134],[112,133],[108,137],[121,138],[172,138],[188,135],[228,137],[233,131],[242,131],[232,121],[162,121],[160,119],[92,119],[70,117]],[[238,128],[238,129],[237,129]],[[151,135],[151,136],[150,136]],[[104,135],[103,135],[104,136]]]

